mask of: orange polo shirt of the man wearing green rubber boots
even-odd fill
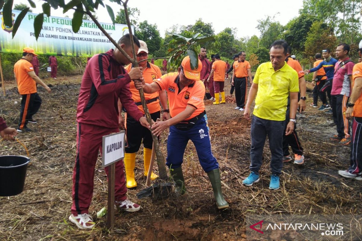
[[[180,91],[178,89],[178,81],[178,73],[172,72],[165,74],[159,79],[155,79],[154,82],[159,86],[160,90],[167,91],[168,105],[172,117],[184,111],[187,106],[195,109],[194,113],[185,119],[190,120],[205,111],[205,104],[203,103],[205,85],[202,81],[197,80]]]

